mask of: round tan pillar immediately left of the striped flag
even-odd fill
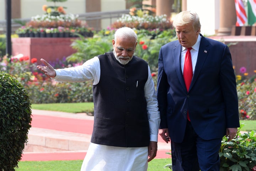
[[[220,27],[217,35],[230,35],[236,23],[236,10],[234,0],[220,0]]]

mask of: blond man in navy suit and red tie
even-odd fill
[[[200,34],[196,12],[178,13],[173,26],[178,40],[159,52],[159,134],[171,141],[174,171],[217,171],[223,136],[230,141],[240,127],[231,54],[225,44]],[[192,80],[187,85],[188,49]]]

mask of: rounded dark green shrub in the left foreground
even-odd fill
[[[0,170],[14,171],[31,127],[31,103],[21,83],[0,71]]]

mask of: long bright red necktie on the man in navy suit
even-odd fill
[[[192,60],[191,60],[191,53],[190,53],[191,49],[192,48],[187,48],[187,52],[184,60],[184,68],[183,68],[183,78],[186,84],[187,91],[190,87],[190,83],[193,77],[193,68],[192,68]],[[187,112],[187,119],[190,121],[188,112]]]

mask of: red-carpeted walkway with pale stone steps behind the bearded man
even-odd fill
[[[32,115],[28,145],[21,161],[84,159],[90,143],[93,116],[44,110],[32,110]],[[170,143],[166,144],[160,136],[158,141],[156,158],[170,158],[166,154],[170,152]],[[50,151],[46,147],[43,150],[38,148],[45,144],[48,144]]]

